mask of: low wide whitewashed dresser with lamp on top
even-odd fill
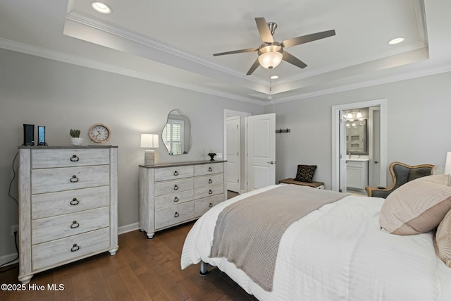
[[[199,219],[227,198],[225,161],[140,165],[140,229],[156,231]]]

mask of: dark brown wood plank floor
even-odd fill
[[[105,252],[36,274],[30,284],[44,285],[44,291],[0,290],[0,300],[257,300],[216,268],[206,277],[199,276],[199,264],[180,270],[192,225],[158,232],[152,240],[140,231],[119,235],[116,255]],[[0,273],[0,284],[19,283],[17,277],[13,266]],[[47,290],[52,284],[64,290]]]

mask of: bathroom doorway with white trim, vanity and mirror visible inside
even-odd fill
[[[332,116],[332,190],[385,186],[386,99],[333,106]]]

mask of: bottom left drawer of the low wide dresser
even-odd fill
[[[155,210],[155,230],[176,225],[194,218],[194,202],[187,202]]]

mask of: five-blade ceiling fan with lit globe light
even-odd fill
[[[247,71],[246,75],[251,75],[260,65],[267,69],[277,67],[282,60],[287,61],[288,63],[292,63],[299,68],[305,68],[307,67],[306,63],[289,54],[284,50],[284,48],[293,47],[299,44],[316,41],[316,39],[323,39],[325,37],[331,37],[335,35],[335,30],[327,30],[323,32],[316,32],[311,35],[302,35],[300,37],[285,39],[283,42],[278,43],[274,42],[273,39],[273,34],[276,31],[277,23],[266,23],[265,18],[255,18],[255,23],[257,23],[261,41],[263,41],[263,44],[261,44],[259,48],[248,48],[221,52],[219,54],[213,54],[213,56],[223,56],[226,54],[240,54],[242,52],[257,51],[259,57],[256,61],[254,61],[254,64],[251,66],[249,71]]]

